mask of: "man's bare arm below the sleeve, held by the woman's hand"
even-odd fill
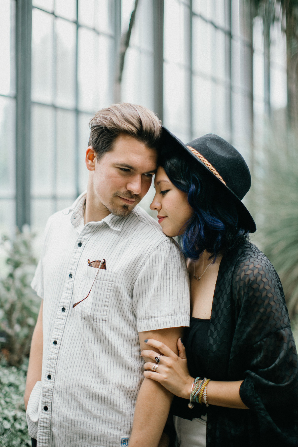
[[[183,328],[160,329],[139,333],[141,350],[151,349],[145,340],[159,340],[176,354],[177,340],[182,335]],[[156,351],[156,349],[155,349]],[[150,359],[145,359],[150,361]],[[130,447],[157,447],[168,418],[173,395],[161,384],[144,379],[135,406],[134,424],[130,436]]]

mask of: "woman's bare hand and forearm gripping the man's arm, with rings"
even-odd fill
[[[185,347],[181,340],[179,339],[177,342],[179,357],[168,346],[165,346],[164,343],[152,339],[149,339],[147,343],[159,350],[163,355],[160,356],[160,362],[158,363],[156,372],[154,372],[151,368],[156,364],[155,356],[158,353],[153,350],[142,351],[141,355],[143,357],[150,358],[154,361],[145,363],[144,367],[147,371],[144,371],[144,376],[147,379],[159,382],[164,388],[167,388],[168,391],[176,396],[189,399],[194,378],[189,375]],[[243,404],[239,395],[241,384],[242,380],[235,382],[210,380],[207,385],[208,404],[218,405],[220,407],[248,409]]]

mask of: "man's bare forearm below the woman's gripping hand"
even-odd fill
[[[157,447],[173,395],[159,383],[144,379],[135,405],[129,447]]]

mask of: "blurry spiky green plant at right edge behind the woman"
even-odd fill
[[[291,317],[298,313],[298,135],[274,135],[264,149],[259,187],[260,236],[285,291]]]

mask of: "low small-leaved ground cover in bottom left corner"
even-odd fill
[[[31,446],[23,397],[27,363],[16,368],[0,362],[0,447]]]

